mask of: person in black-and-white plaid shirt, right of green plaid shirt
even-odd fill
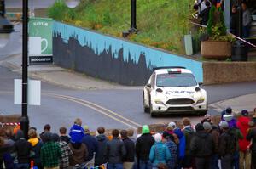
[[[60,169],[68,169],[69,166],[69,158],[73,155],[70,147],[65,141],[62,141],[60,136],[57,133],[52,134],[52,140],[56,144],[58,144],[61,148],[61,158],[60,158]]]

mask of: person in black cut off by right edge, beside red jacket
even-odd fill
[[[252,150],[252,166],[253,168],[256,168],[256,123],[254,123],[254,127],[251,128],[247,134],[247,140],[253,141],[253,144],[251,146]]]

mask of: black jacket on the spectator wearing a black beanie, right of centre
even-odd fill
[[[195,133],[190,144],[190,155],[195,157],[208,157],[214,149],[212,135],[205,131]]]

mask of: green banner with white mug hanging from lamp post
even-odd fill
[[[52,19],[29,19],[28,51],[30,65],[51,64],[53,62],[52,25]]]

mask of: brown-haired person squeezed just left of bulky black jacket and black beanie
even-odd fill
[[[192,138],[195,135],[194,129],[191,127],[191,122],[189,118],[183,119],[183,133],[186,140],[186,147],[185,147],[185,156],[183,160],[183,168],[191,168],[193,164],[193,157],[190,155],[189,149],[190,149],[190,143]]]

